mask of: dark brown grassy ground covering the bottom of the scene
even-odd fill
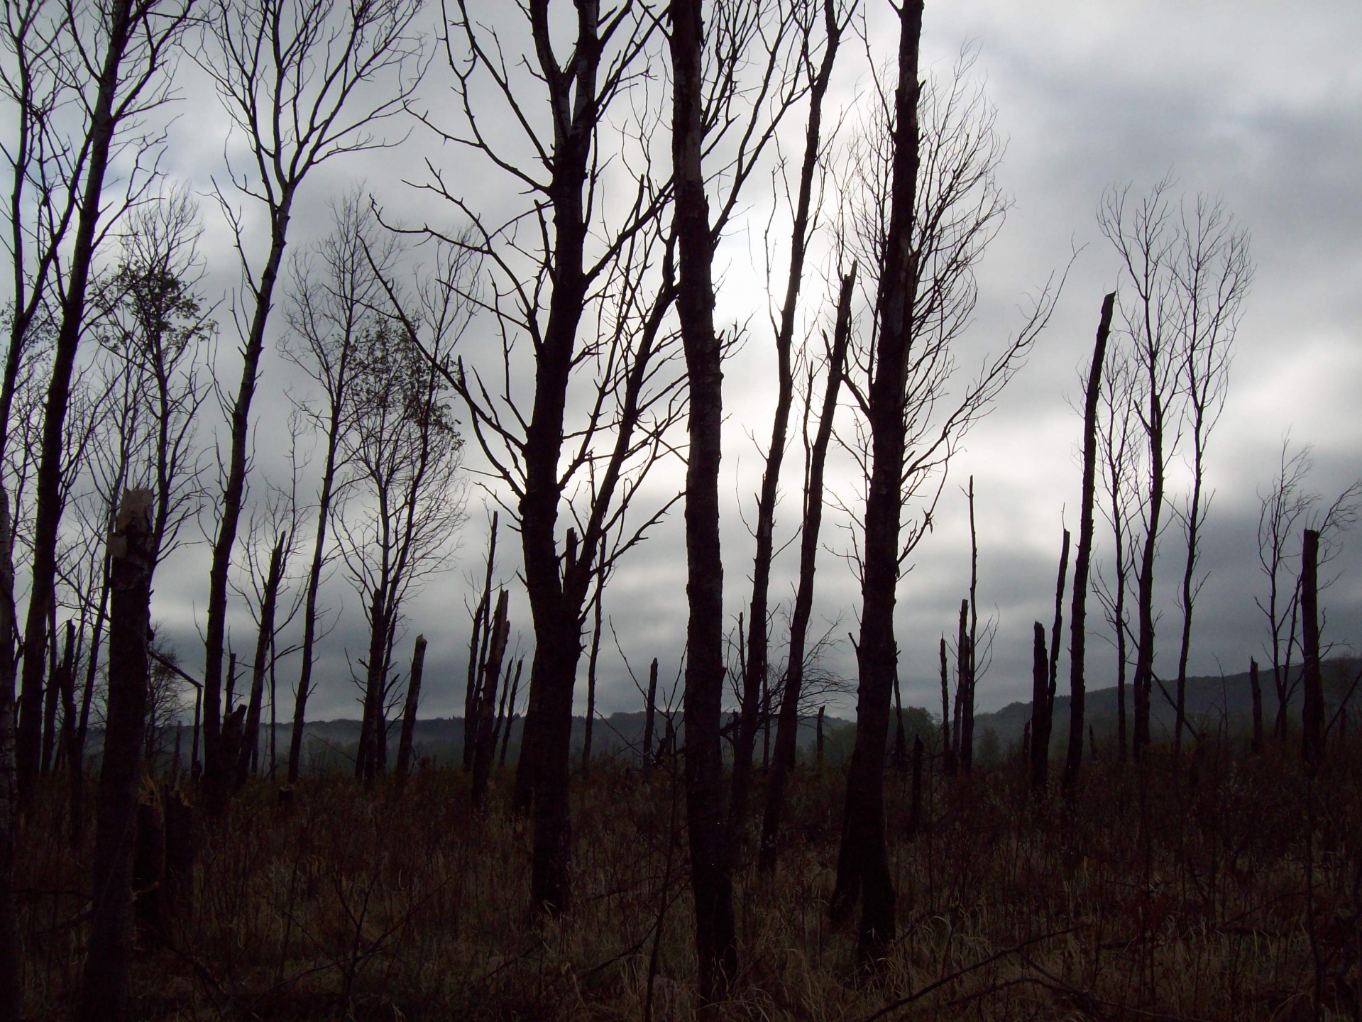
[[[312,778],[289,801],[255,782],[200,820],[193,913],[139,953],[133,1017],[691,1018],[676,774],[577,778],[575,905],[553,923],[527,916],[508,777],[484,816],[459,771]],[[79,985],[93,819],[72,852],[65,784],[39,794],[16,863],[34,1019],[63,1018]],[[840,788],[840,771],[801,771],[778,872],[740,868],[742,972],[719,1017],[1362,1017],[1362,747],[1335,745],[1313,781],[1276,752],[1090,763],[1072,823],[1028,804],[1017,762],[929,770],[915,837],[892,775],[900,936],[874,981],[854,973],[854,933],[827,923]]]

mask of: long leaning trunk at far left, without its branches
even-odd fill
[[[76,234],[65,266],[61,296],[61,326],[52,356],[52,377],[42,413],[42,448],[38,458],[37,506],[33,525],[33,583],[23,630],[23,683],[19,695],[19,732],[15,760],[19,797],[27,801],[42,752],[42,675],[48,646],[48,616],[56,598],[57,530],[61,525],[61,463],[64,427],[71,401],[71,376],[84,323],[86,292],[94,266],[104,180],[109,169],[118,119],[113,101],[127,53],[133,20],[144,16],[132,0],[114,0],[109,11],[109,40],[104,52],[99,83],[89,129],[89,169],[76,214]]]

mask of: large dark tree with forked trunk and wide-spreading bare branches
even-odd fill
[[[535,646],[512,807],[534,819],[533,908],[554,913],[571,898],[572,700],[597,551],[607,533],[618,537],[606,556],[614,563],[671,503],[637,518],[631,510],[680,414],[666,328],[674,244],[662,218],[670,189],[651,169],[661,114],[643,94],[661,22],[639,5],[577,4],[564,55],[548,3],[505,11],[518,25],[475,20],[459,0],[447,55],[462,123],[422,120],[527,196],[509,218],[501,206],[482,211],[462,192],[464,162],[449,180],[430,168],[428,187],[470,222],[459,244],[496,282],[496,297],[477,301],[501,331],[498,357],[445,369],[520,533]],[[504,52],[523,53],[519,67]],[[633,173],[622,206],[602,198],[607,164]],[[533,392],[518,377],[533,379]],[[560,518],[572,519],[576,551],[564,549]]]

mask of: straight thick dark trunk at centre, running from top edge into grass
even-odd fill
[[[691,890],[701,1003],[723,996],[738,970],[733,876],[723,818],[719,717],[723,699],[723,557],[719,456],[723,352],[714,331],[714,237],[704,191],[704,26],[700,0],[671,0],[671,166],[680,252],[677,311],[691,387],[686,461],[685,784]],[[884,740],[880,741],[881,756]]]

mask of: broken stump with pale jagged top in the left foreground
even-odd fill
[[[121,1019],[132,959],[132,850],[146,726],[151,627],[153,493],[128,491],[109,546],[113,585],[109,621],[109,709],[99,774],[91,878],[90,943],[80,989],[82,1021]]]

